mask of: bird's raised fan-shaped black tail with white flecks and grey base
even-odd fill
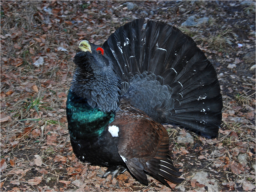
[[[114,62],[115,73],[123,81],[122,96],[161,123],[172,121],[216,135],[222,118],[222,96],[214,67],[193,39],[179,29],[148,20],[143,31],[143,24],[144,19],[127,23],[103,44]],[[134,78],[144,71],[155,74],[150,78],[161,88],[146,93],[142,87],[149,85],[140,85]],[[159,92],[167,93],[163,85],[169,89],[169,102],[158,96]],[[139,95],[144,94],[150,95],[148,102],[152,105],[140,103]]]

